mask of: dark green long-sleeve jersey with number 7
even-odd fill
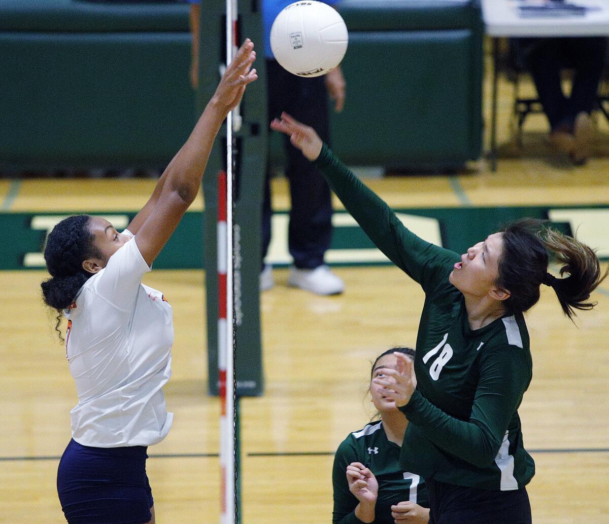
[[[379,484],[374,524],[394,524],[391,506],[410,500],[429,508],[427,489],[420,475],[406,472],[400,466],[400,446],[387,440],[381,421],[370,422],[364,429],[350,433],[334,455],[333,524],[360,524],[355,516],[359,503],[349,491],[347,466],[360,462],[375,475]]]

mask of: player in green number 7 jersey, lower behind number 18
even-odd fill
[[[400,353],[414,359],[412,348],[395,347],[381,353],[370,371],[371,401],[380,420],[350,433],[334,456],[333,524],[427,524],[429,500],[424,480],[400,466],[400,447],[408,420],[395,400],[372,379],[396,369]],[[376,417],[375,417],[376,418]]]

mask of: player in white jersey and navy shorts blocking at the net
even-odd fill
[[[248,39],[127,230],[77,215],[49,235],[44,302],[57,310],[57,326],[68,319],[66,356],[79,396],[57,474],[69,524],[155,522],[146,449],[172,423],[162,388],[174,330],[171,306],[141,280],[197,196],[220,125],[257,78],[255,56]]]

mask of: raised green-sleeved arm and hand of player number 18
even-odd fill
[[[281,115],[281,120],[273,120],[270,126],[289,136],[294,147],[317,164],[345,209],[396,266],[426,291],[431,281],[438,277],[448,278],[459,255],[422,240],[404,227],[390,207],[333,155],[314,129],[286,113]],[[443,270],[447,270],[446,275]]]

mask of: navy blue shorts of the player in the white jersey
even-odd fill
[[[57,470],[68,524],[145,524],[152,519],[147,447],[90,447],[71,440]]]

